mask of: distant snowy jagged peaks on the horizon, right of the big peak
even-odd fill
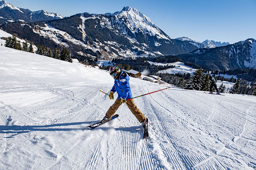
[[[198,48],[215,48],[215,47],[219,47],[219,46],[227,46],[229,45],[229,43],[227,42],[215,42],[213,40],[208,40],[206,39],[205,41],[203,41],[202,43],[200,41],[196,41],[196,40],[193,40],[193,39],[190,39],[188,37],[180,37],[180,38],[176,38],[176,39],[179,39],[181,41],[187,41],[195,46],[197,46]]]

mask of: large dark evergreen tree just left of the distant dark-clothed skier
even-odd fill
[[[197,69],[189,79],[186,89],[200,90],[203,87],[203,69]]]

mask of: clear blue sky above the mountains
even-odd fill
[[[233,44],[256,39],[256,0],[5,0],[31,11],[69,17],[77,13],[114,13],[124,6],[151,18],[172,39],[189,37]]]

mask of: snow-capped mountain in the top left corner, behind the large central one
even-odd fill
[[[36,22],[61,18],[63,17],[60,14],[49,13],[44,10],[32,12],[28,9],[17,8],[4,0],[0,1],[0,24],[14,21]]]

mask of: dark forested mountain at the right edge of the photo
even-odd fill
[[[184,61],[194,62],[208,70],[256,68],[256,40],[246,39],[231,45],[197,49],[178,55]]]

